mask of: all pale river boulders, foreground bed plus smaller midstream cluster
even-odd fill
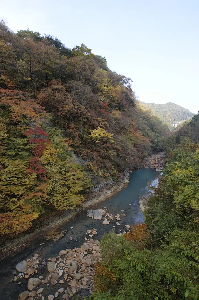
[[[131,205],[131,203],[129,204]],[[113,228],[120,227],[121,218],[126,214],[111,214],[104,207],[99,210],[88,210],[87,217],[100,220],[103,226],[114,221]],[[97,226],[96,226],[97,227]],[[71,226],[73,228],[73,226]],[[130,226],[124,226],[125,231],[119,229],[122,233],[129,233]],[[53,300],[70,299],[77,293],[78,299],[89,296],[94,290],[95,264],[101,261],[100,242],[95,239],[97,228],[88,229],[80,247],[73,249],[60,249],[54,257],[42,258],[40,254],[35,253],[33,257],[18,262],[15,270],[12,270],[13,277],[10,280],[9,290],[6,292],[7,299],[18,300]],[[73,240],[73,237],[69,237]],[[12,290],[16,285],[23,286],[23,291],[13,298]]]

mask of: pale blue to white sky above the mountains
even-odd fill
[[[0,18],[85,43],[132,78],[141,101],[199,110],[199,0],[2,0]]]

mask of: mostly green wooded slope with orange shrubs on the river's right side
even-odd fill
[[[105,234],[92,300],[199,298],[199,114],[168,136],[145,223]]]

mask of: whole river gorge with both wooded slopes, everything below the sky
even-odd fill
[[[197,300],[199,113],[4,20],[0,54],[1,299]]]

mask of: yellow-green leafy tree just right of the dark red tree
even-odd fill
[[[48,204],[58,209],[73,208],[84,201],[83,195],[79,192],[89,185],[85,172],[81,166],[71,162],[69,159],[61,159],[61,150],[55,150],[48,145],[41,157],[41,162],[46,169],[47,180],[47,199]]]

